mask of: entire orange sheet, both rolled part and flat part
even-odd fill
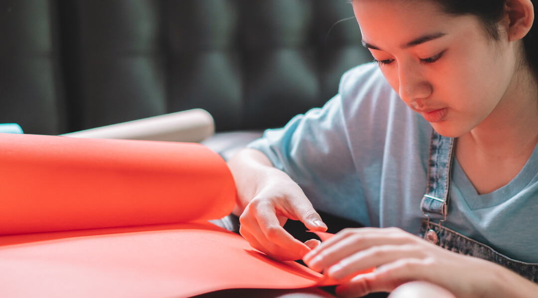
[[[206,220],[235,184],[199,144],[0,133],[0,296],[188,297],[328,285]]]

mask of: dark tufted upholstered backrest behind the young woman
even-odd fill
[[[191,108],[285,124],[371,60],[346,0],[0,0],[0,123],[57,135]],[[332,30],[329,33],[329,29]]]

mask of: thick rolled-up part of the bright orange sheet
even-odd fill
[[[0,234],[208,220],[236,190],[195,143],[0,133]]]

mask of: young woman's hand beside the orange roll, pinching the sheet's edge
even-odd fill
[[[243,150],[228,165],[237,185],[239,233],[253,248],[274,259],[296,260],[319,243],[302,243],[284,229],[288,219],[299,220],[310,230],[325,231],[327,226],[299,185],[263,153]]]

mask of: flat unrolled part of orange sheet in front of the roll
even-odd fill
[[[272,260],[208,222],[46,234],[4,236],[19,244],[0,246],[0,296],[190,297],[327,283],[321,274]]]

